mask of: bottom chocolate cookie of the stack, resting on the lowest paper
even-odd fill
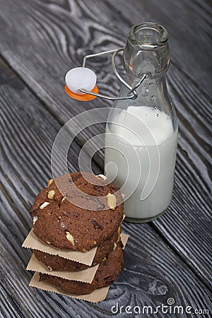
[[[100,263],[92,283],[82,283],[80,281],[69,281],[68,279],[60,278],[40,273],[40,281],[46,281],[57,286],[59,290],[75,295],[83,295],[92,293],[93,290],[112,284],[117,280],[124,266],[124,251],[122,243],[119,242],[117,248],[112,251],[105,261]]]

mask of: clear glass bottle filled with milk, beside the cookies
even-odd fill
[[[123,53],[134,100],[117,100],[105,131],[105,175],[124,194],[126,220],[143,223],[169,206],[177,152],[177,117],[167,93],[168,34],[155,23],[134,25]],[[120,95],[127,95],[123,85]]]

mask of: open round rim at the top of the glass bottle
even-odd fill
[[[128,38],[132,45],[148,49],[164,45],[168,40],[168,33],[162,25],[143,22],[129,29]]]

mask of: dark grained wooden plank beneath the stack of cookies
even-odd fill
[[[170,297],[176,305],[211,310],[211,294],[206,286],[148,224],[123,225],[131,235],[124,271],[105,302],[94,305],[28,287],[32,274],[25,271],[25,266],[30,251],[21,244],[31,228],[29,210],[35,194],[51,177],[49,158],[60,124],[2,61],[0,69],[4,75],[0,83],[2,317],[105,318],[111,317],[111,308],[117,303],[119,308],[151,305],[155,309],[166,305]],[[73,148],[77,152],[77,145]],[[75,170],[77,160],[74,153],[72,156]],[[161,312],[146,317],[167,315]]]

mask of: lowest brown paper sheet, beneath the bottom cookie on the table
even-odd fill
[[[126,246],[126,242],[129,238],[129,235],[123,234],[121,235],[122,237],[122,243],[124,245],[124,247]],[[79,273],[79,272],[77,272]],[[29,284],[31,287],[35,287],[35,288],[40,288],[42,290],[47,290],[53,293],[59,293],[61,295],[64,296],[68,296],[71,298],[76,298],[79,300],[86,300],[88,302],[102,302],[102,300],[105,300],[108,290],[110,288],[110,286],[107,287],[103,287],[103,288],[98,288],[96,290],[93,291],[93,293],[90,294],[86,294],[86,295],[73,295],[70,293],[64,293],[61,292],[60,290],[58,290],[56,287],[54,287],[53,285],[50,285],[49,283],[45,282],[45,281],[40,281],[40,276],[39,273],[36,271],[33,278],[30,281]]]

